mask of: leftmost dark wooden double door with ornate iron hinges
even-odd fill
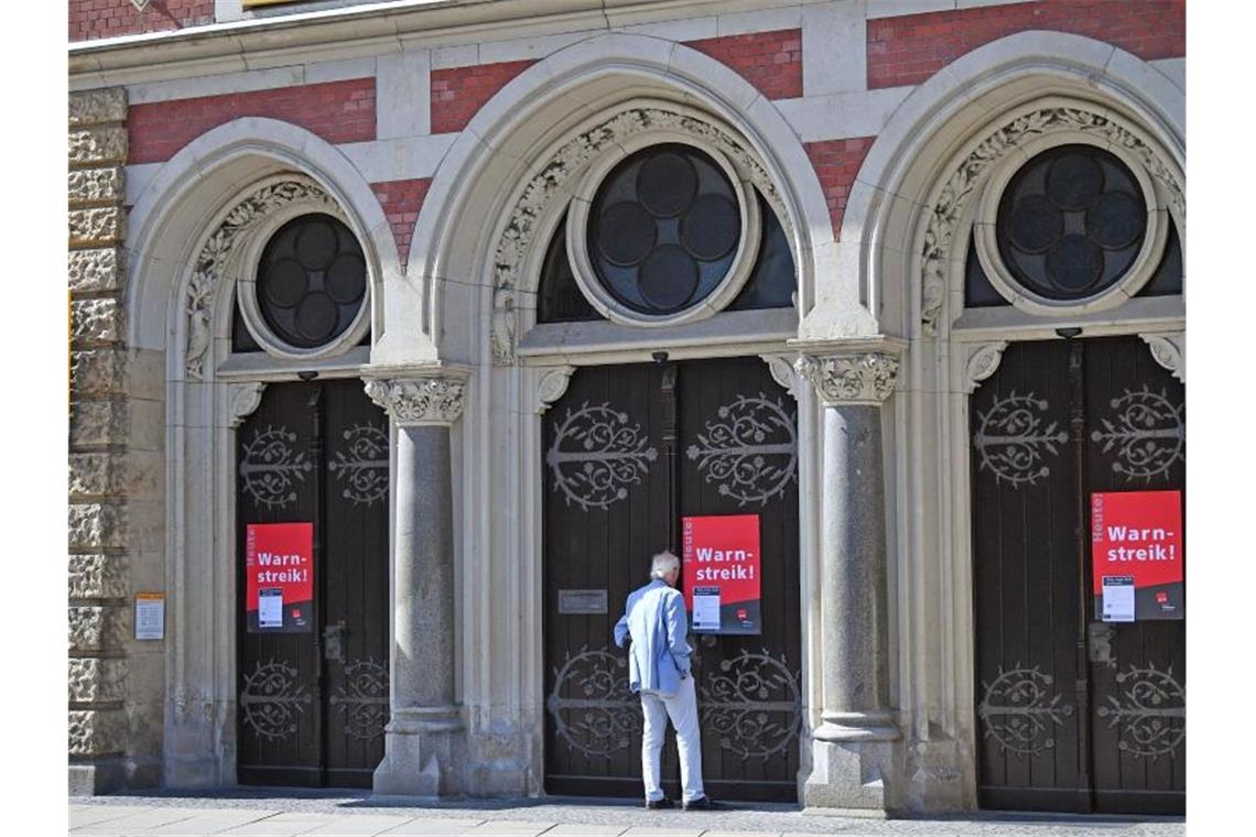
[[[271,384],[237,433],[236,478],[239,781],[371,787],[388,719],[387,418],[357,380]],[[313,525],[310,612],[283,627],[246,606],[257,523]]]

